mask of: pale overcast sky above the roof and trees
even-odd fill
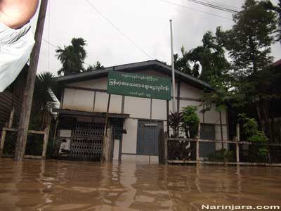
[[[169,19],[172,19],[174,24],[175,53],[181,51],[181,46],[190,50],[200,45],[202,36],[207,30],[214,31],[217,26],[228,30],[233,25],[231,13],[200,6],[187,0],[88,1],[134,44],[110,25],[86,0],[49,0],[43,37],[51,44],[61,47],[69,45],[73,37],[82,37],[87,41],[86,63],[93,64],[99,60],[105,67],[152,59],[170,64]],[[244,0],[206,1],[233,6],[236,10],[239,10],[244,2]],[[34,15],[31,22],[32,31],[35,32],[37,15]],[[55,74],[61,64],[55,57],[55,47],[46,41],[42,41],[41,44],[38,72],[48,70]],[[275,44],[273,46],[275,60],[279,59],[280,55],[281,45]]]

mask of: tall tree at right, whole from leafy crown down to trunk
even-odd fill
[[[257,89],[259,82],[255,75],[273,61],[270,46],[275,41],[275,13],[266,10],[264,3],[246,0],[242,11],[235,14],[233,20],[233,29],[224,33],[226,48],[233,59],[233,84],[244,96],[244,102],[256,106],[260,124],[263,122],[260,114],[266,116],[264,121],[269,128],[268,102]]]

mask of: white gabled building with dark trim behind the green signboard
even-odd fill
[[[57,95],[60,109],[55,111],[59,114],[59,134],[66,140],[63,148],[70,156],[100,158],[108,101],[107,74],[110,70],[171,78],[171,68],[158,60],[58,77],[56,82],[59,87]],[[211,90],[209,84],[177,70],[175,76],[176,110],[190,105],[200,106],[204,90]],[[163,131],[167,129],[167,104],[171,110],[171,101],[111,96],[109,118],[115,128],[114,159],[146,160],[148,155],[157,155],[158,139],[162,138]],[[204,117],[200,110],[202,108],[198,109],[198,115],[201,124],[204,124],[201,138],[220,140],[219,114],[214,106],[204,113]],[[226,110],[222,113],[222,121],[223,139],[226,140],[228,139]],[[213,143],[205,145],[200,152],[202,157],[221,146],[220,144],[215,146]]]

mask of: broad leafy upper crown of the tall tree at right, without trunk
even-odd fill
[[[226,48],[233,59],[238,79],[262,70],[272,63],[269,55],[276,29],[275,14],[255,0],[246,0],[242,11],[233,16],[235,25],[226,35]]]

